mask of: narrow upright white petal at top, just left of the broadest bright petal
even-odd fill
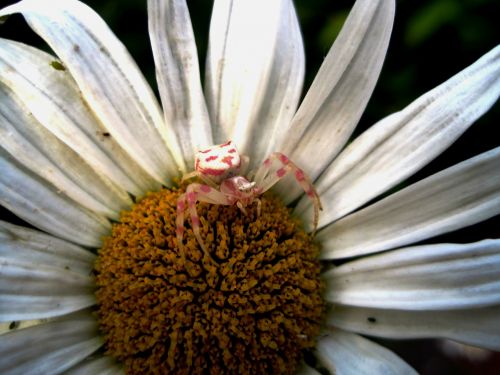
[[[176,133],[178,152],[193,166],[194,152],[213,141],[185,0],[148,0],[148,20],[165,122]]]

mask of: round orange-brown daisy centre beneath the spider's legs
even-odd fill
[[[151,193],[113,225],[94,273],[105,350],[127,374],[293,374],[324,311],[318,247],[277,198],[199,203],[206,261],[182,190]],[[190,272],[187,271],[189,267]],[[193,272],[194,270],[194,272]]]

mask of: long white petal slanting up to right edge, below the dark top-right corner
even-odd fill
[[[499,94],[497,47],[401,112],[375,124],[351,143],[315,183],[324,206],[320,227],[429,163],[483,115]],[[311,216],[307,198],[302,199],[296,213],[306,207]]]

